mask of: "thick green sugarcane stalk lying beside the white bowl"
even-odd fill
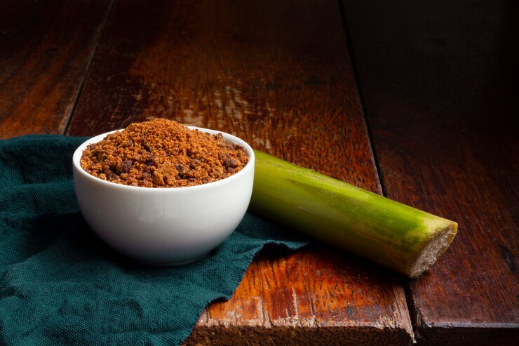
[[[445,252],[457,223],[255,151],[250,211],[419,277]]]

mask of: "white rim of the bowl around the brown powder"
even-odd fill
[[[81,175],[81,177],[93,180],[94,182],[97,182],[101,185],[106,185],[106,187],[116,188],[116,189],[128,189],[129,190],[135,190],[135,191],[153,191],[154,193],[172,193],[172,192],[187,192],[189,190],[196,190],[196,189],[207,189],[211,187],[217,187],[217,185],[222,184],[228,184],[232,180],[236,180],[241,178],[242,175],[245,175],[249,173],[249,171],[254,171],[254,164],[255,164],[255,154],[254,150],[250,145],[242,140],[241,138],[236,137],[235,135],[231,135],[230,133],[226,133],[224,131],[217,131],[210,128],[202,128],[198,126],[188,126],[184,125],[187,128],[190,128],[191,130],[198,130],[205,133],[209,133],[211,135],[215,135],[218,133],[222,133],[222,136],[224,137],[224,140],[226,142],[231,142],[237,145],[241,145],[243,149],[245,149],[245,153],[247,154],[249,161],[245,166],[238,171],[237,173],[234,173],[233,175],[230,175],[227,178],[216,180],[213,182],[205,182],[200,185],[193,185],[193,186],[182,186],[182,187],[144,187],[144,186],[133,186],[133,185],[123,185],[119,184],[118,182],[111,182],[109,180],[102,180],[100,178],[97,178],[87,171],[85,171],[81,167],[81,156],[83,155],[83,151],[86,149],[86,147],[90,144],[93,144],[95,142],[100,142],[103,140],[107,135],[111,133],[115,133],[117,131],[123,131],[123,128],[119,128],[117,130],[108,131],[105,133],[101,133],[100,135],[95,135],[92,138],[88,138],[88,140],[84,141],[74,150],[74,154],[72,155],[72,166],[74,167],[74,171]],[[76,180],[76,176],[74,175],[74,180]]]

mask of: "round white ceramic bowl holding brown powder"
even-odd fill
[[[81,213],[109,246],[149,265],[182,265],[203,258],[236,229],[254,180],[254,152],[246,142],[222,133],[249,157],[248,164],[228,178],[190,187],[134,187],[95,178],[81,168],[83,150],[109,133],[84,142],[72,159]]]

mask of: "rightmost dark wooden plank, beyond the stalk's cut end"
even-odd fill
[[[387,196],[459,222],[407,283],[419,343],[516,345],[517,3],[343,4]]]

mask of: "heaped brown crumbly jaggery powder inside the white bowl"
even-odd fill
[[[248,157],[225,142],[168,119],[134,123],[88,145],[81,167],[102,180],[140,187],[201,185],[241,171]]]

